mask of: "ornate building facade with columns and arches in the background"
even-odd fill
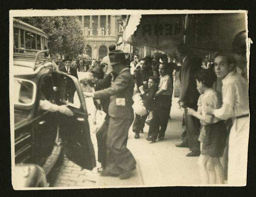
[[[121,15],[79,16],[86,44],[84,52],[90,58],[103,58],[108,55],[108,46],[116,45],[116,35],[121,30]]]

